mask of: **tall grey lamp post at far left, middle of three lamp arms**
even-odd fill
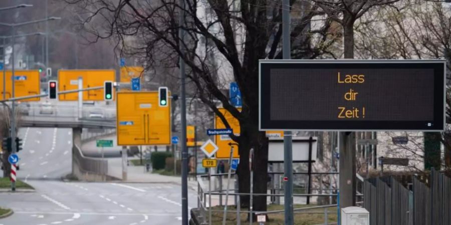
[[[38,22],[44,22],[44,21],[49,21],[49,20],[56,20],[56,19],[61,19],[60,17],[49,17],[49,18],[44,18],[44,19],[38,19],[38,20],[32,20],[32,21],[27,21],[27,22],[20,22],[20,23],[4,23],[4,22],[0,22],[0,25],[4,25],[4,26],[10,26],[12,28],[12,52],[11,52],[11,57],[12,57],[12,75],[11,75],[11,81],[12,81],[12,93],[11,93],[11,97],[14,98],[15,97],[15,68],[14,68],[14,45],[16,44],[16,27],[17,26],[23,26],[23,25],[29,25],[29,24],[33,24],[33,23],[38,23]],[[11,147],[12,152],[16,153],[16,106],[15,106],[15,102],[14,100],[12,101],[12,106],[11,106],[11,139],[13,141],[11,141]],[[11,182],[11,189],[12,190],[16,190],[16,183],[15,182]]]

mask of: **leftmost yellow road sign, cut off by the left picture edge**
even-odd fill
[[[7,70],[6,77],[6,90],[3,90],[3,75],[0,75],[0,89],[2,94],[0,98],[3,99],[3,92],[6,93],[6,98],[13,97],[13,82],[11,80],[13,72]],[[14,71],[14,95],[15,97],[22,97],[27,95],[35,95],[41,93],[41,83],[39,80],[39,70],[15,70]],[[21,101],[39,101],[39,97],[23,99]]]

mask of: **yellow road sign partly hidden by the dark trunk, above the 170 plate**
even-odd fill
[[[237,118],[235,118],[228,110],[225,110],[225,108],[218,108],[219,111],[224,115],[225,119],[229,122],[230,128],[234,131],[235,135],[240,135],[240,122]],[[239,108],[239,110],[241,110]],[[215,115],[214,119],[214,128],[215,129],[223,129],[226,128],[222,120]],[[219,150],[216,152],[216,158],[229,158],[230,157],[230,149],[231,146],[229,143],[237,143],[233,141],[228,134],[225,135],[215,135],[214,136],[214,142],[219,147]],[[234,158],[239,158],[240,155],[238,154],[238,146],[234,145]]]

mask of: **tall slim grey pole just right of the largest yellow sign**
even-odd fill
[[[185,0],[179,0],[180,2],[180,17],[179,17],[179,25],[183,26],[185,23]],[[179,35],[179,46],[180,51],[183,54],[183,42],[184,42],[184,30],[180,28],[178,30]],[[183,60],[183,55],[180,55],[180,117],[181,117],[181,152],[182,152],[182,167],[181,167],[181,197],[182,197],[182,225],[188,225],[188,149],[186,148],[186,97],[185,97],[185,61]]]

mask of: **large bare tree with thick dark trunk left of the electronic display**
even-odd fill
[[[80,6],[80,14],[85,16],[83,28],[95,35],[94,41],[115,38],[124,49],[125,38],[138,37],[134,51],[139,49],[150,67],[174,63],[181,56],[188,65],[187,76],[194,86],[194,95],[226,126],[230,127],[218,110],[220,105],[240,121],[240,135],[231,135],[239,143],[239,192],[249,192],[248,157],[253,147],[257,162],[254,192],[266,193],[268,139],[258,129],[258,60],[282,55],[281,2],[189,0],[182,9],[178,0],[67,1]],[[335,57],[328,51],[337,39],[329,33],[330,21],[318,29],[310,28],[311,18],[323,12],[317,10],[315,3],[292,0],[292,5],[292,14],[297,15],[291,34],[293,58]],[[184,24],[178,23],[180,10],[185,12]],[[179,28],[186,33],[183,40],[178,36]],[[242,110],[234,107],[224,93],[232,80],[241,89]],[[241,198],[244,206],[249,205],[248,196]],[[257,197],[254,209],[266,210],[266,197]]]

